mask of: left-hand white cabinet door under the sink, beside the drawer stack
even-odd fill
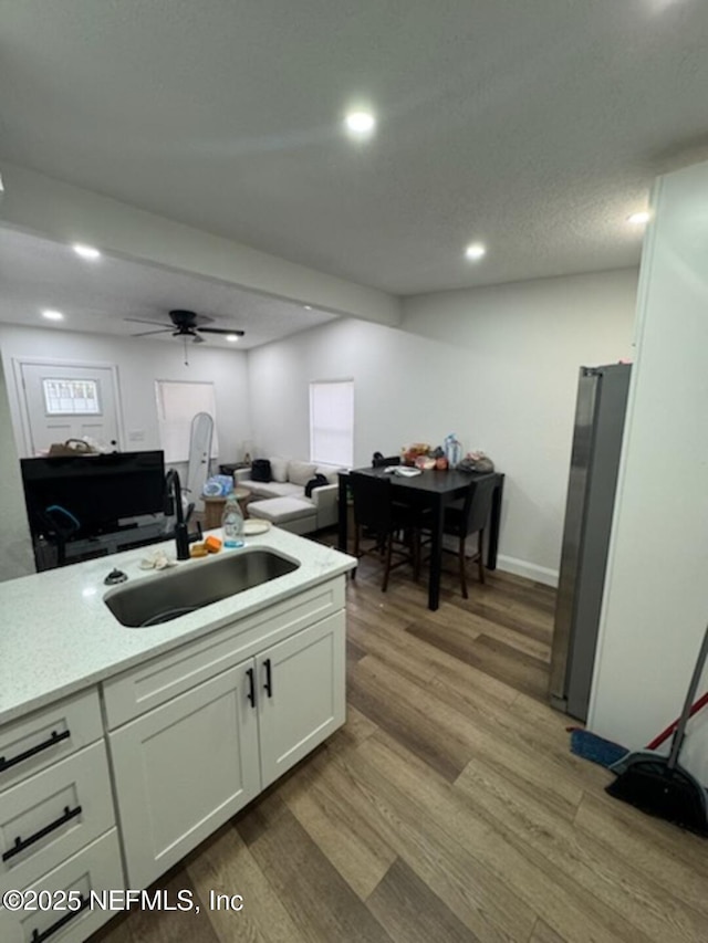
[[[249,660],[110,734],[128,881],[146,888],[260,792]]]

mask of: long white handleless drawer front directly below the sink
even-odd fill
[[[343,608],[344,578],[340,577],[118,674],[103,685],[108,727],[113,730],[166,703],[266,646]]]

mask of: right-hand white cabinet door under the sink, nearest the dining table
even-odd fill
[[[344,641],[341,611],[256,659],[263,788],[344,723]]]

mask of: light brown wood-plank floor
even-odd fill
[[[708,940],[708,844],[604,793],[545,703],[554,594],[503,574],[441,605],[348,583],[346,725],[155,884],[105,943]],[[209,911],[209,891],[241,894]]]

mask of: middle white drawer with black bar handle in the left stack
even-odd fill
[[[0,891],[25,887],[113,825],[98,741],[0,794]]]

